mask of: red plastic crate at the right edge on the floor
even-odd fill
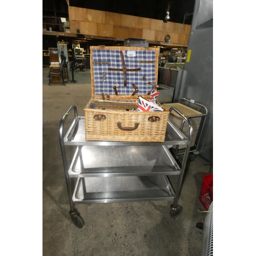
[[[199,200],[206,210],[209,209],[211,198],[212,200],[214,198],[214,175],[207,174],[203,176],[203,184],[199,196]]]

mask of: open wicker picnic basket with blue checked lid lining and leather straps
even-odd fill
[[[90,49],[92,98],[84,108],[86,140],[163,142],[169,111],[133,111],[139,96],[148,100],[156,91],[159,48]]]

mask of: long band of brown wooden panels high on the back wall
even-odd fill
[[[86,8],[69,7],[70,32],[93,36],[116,37],[119,40],[138,38],[164,41],[169,34],[172,44],[188,44],[190,25],[136,17]]]

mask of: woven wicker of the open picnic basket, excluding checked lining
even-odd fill
[[[129,51],[156,51],[155,81],[158,73],[158,48],[140,47],[91,47],[91,77],[92,99],[84,108],[87,141],[124,141],[124,142],[163,142],[167,127],[169,111],[138,112],[132,111],[138,106],[139,96],[148,99],[149,95],[95,95],[93,51],[97,50],[129,50]],[[129,72],[127,72],[129,73]],[[127,74],[129,75],[129,74]],[[151,88],[148,89],[150,91]],[[104,100],[103,100],[104,99]],[[93,105],[93,107],[92,107]],[[95,116],[104,118],[95,119]],[[157,117],[158,121],[149,121],[148,118]],[[155,120],[155,119],[154,119]],[[119,122],[119,123],[118,123]],[[137,123],[137,124],[136,124]],[[137,125],[137,127],[136,127]],[[131,129],[134,129],[131,131]],[[136,129],[135,129],[136,128]]]

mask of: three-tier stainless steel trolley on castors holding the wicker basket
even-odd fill
[[[63,127],[74,111],[74,120],[66,135]],[[166,137],[159,142],[106,142],[86,141],[84,117],[77,115],[72,105],[59,123],[59,142],[68,189],[70,216],[74,225],[82,228],[84,221],[75,208],[80,203],[112,203],[145,200],[173,200],[170,216],[177,217],[182,206],[178,204],[181,182],[193,134],[191,122],[177,109],[189,126],[186,138],[168,120]],[[185,144],[181,167],[167,147]],[[71,164],[68,165],[66,146],[75,146]],[[179,175],[176,190],[169,176]],[[74,181],[74,183],[72,182]]]

